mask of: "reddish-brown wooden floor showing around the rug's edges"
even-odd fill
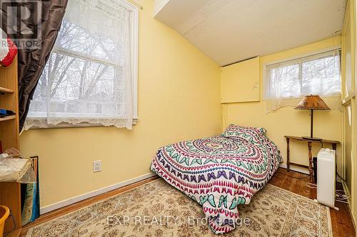
[[[39,225],[40,223],[44,223],[58,216],[67,214],[71,211],[81,209],[84,206],[94,204],[97,201],[108,199],[109,197],[121,194],[124,191],[134,189],[136,186],[145,184],[154,179],[158,179],[158,177],[153,177],[150,179],[146,179],[144,181],[140,181],[136,184],[124,186],[120,189],[115,189],[114,191],[109,191],[108,193],[95,196],[91,199],[86,199],[76,204],[66,206],[62,209],[51,211],[48,214],[41,215],[38,219],[36,219],[36,221],[24,226],[21,232],[21,236],[26,236],[27,231],[32,226]],[[292,171],[287,172],[286,169],[281,169],[281,168],[278,169],[276,174],[274,174],[274,176],[269,181],[270,184],[279,186],[282,189],[292,191],[293,193],[300,194],[301,196],[306,196],[310,199],[316,199],[316,189],[311,189],[308,186],[306,186],[306,183],[308,182],[309,182],[309,178],[306,174],[301,174]],[[336,189],[342,189],[341,184],[337,184]],[[348,204],[343,204],[341,202],[336,201],[336,206],[340,209],[339,211],[331,209],[331,222],[332,222],[333,236],[335,237],[355,236],[355,229],[353,227],[353,222],[352,222],[351,214],[348,209]]]

